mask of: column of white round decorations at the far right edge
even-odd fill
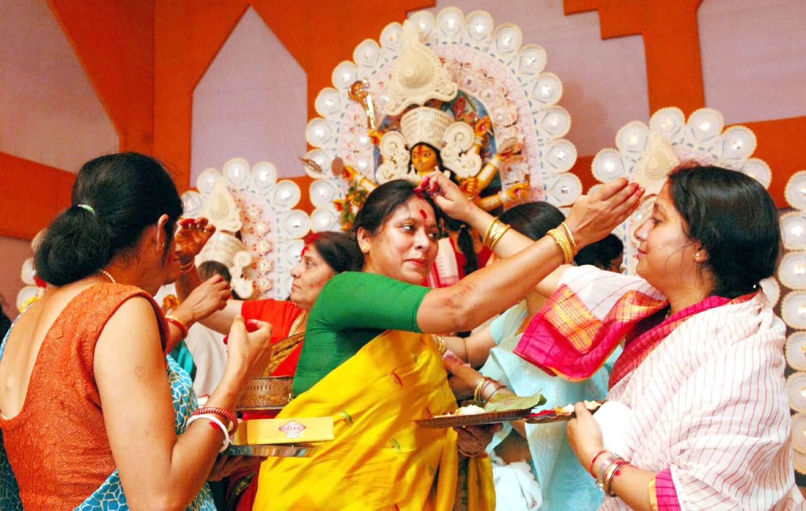
[[[792,416],[795,470],[806,474],[806,170],[792,174],[783,194],[789,205],[795,208],[781,215],[781,239],[788,252],[778,265],[778,280],[768,280],[772,280],[779,294],[782,292],[780,287],[784,288],[781,318],[795,330],[787,337],[784,353],[787,364],[796,370],[787,378],[790,405],[798,412]],[[767,288],[764,293],[770,297]]]

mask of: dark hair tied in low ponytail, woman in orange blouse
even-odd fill
[[[53,220],[36,247],[36,273],[52,285],[81,280],[118,253],[133,250],[143,230],[162,214],[168,215],[165,260],[182,201],[163,165],[136,152],[89,160],[73,184],[71,206]]]

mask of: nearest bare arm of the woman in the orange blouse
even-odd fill
[[[221,383],[208,406],[235,409],[243,388],[271,359],[271,326],[230,332]],[[223,434],[206,420],[177,437],[155,310],[133,297],[112,315],[95,349],[94,376],[114,463],[132,509],[185,509],[202,488]],[[226,418],[221,417],[226,424]]]

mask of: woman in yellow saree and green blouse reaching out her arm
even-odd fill
[[[509,236],[442,174],[423,186],[446,214],[492,231],[488,244]],[[572,236],[582,247],[607,235],[641,194],[622,180],[583,197],[562,240]],[[438,348],[423,332],[477,326],[519,301],[569,254],[546,236],[456,285],[422,287],[437,251],[434,201],[409,181],[390,181],[356,216],[364,271],[343,272],[322,289],[310,311],[295,398],[278,416],[330,416],[335,439],[310,458],[265,462],[253,509],[495,509],[484,453],[491,431],[429,430],[413,422],[457,406]]]

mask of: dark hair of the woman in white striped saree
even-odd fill
[[[775,272],[781,232],[775,202],[758,181],[727,168],[685,166],[669,175],[685,234],[708,251],[711,294],[735,298]]]

